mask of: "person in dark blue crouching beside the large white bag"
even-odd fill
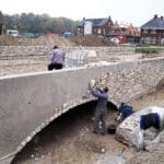
[[[118,121],[124,121],[128,116],[130,116],[131,114],[133,114],[132,110],[132,106],[127,105],[125,103],[121,103],[119,108],[118,108],[118,117],[117,120]]]

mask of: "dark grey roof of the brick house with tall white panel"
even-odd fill
[[[108,19],[86,19],[85,21],[92,22],[93,26],[103,26],[106,24]],[[84,26],[84,21],[81,21],[79,26]]]

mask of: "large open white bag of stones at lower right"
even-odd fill
[[[116,130],[116,138],[129,145],[139,147],[139,131],[140,131],[140,116],[145,115],[149,113],[157,113],[160,117],[162,118],[161,127],[163,129],[163,120],[164,120],[164,108],[163,107],[149,107],[145,109],[142,109],[140,112],[137,112],[129,116],[125,121],[122,121],[117,130]],[[149,145],[153,142],[160,142],[160,139],[154,141],[157,131],[154,129],[148,129],[144,132],[144,142],[145,145]],[[160,136],[160,134],[159,134]],[[161,139],[163,140],[164,136],[161,134]]]

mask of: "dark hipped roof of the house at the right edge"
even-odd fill
[[[164,30],[164,19],[163,16],[157,17],[156,15],[152,20],[143,24],[141,28]]]

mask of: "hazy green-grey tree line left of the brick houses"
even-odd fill
[[[2,14],[3,33],[7,30],[17,30],[19,33],[57,33],[63,32],[75,33],[75,27],[79,21],[73,21],[67,17],[50,17],[48,14]]]

